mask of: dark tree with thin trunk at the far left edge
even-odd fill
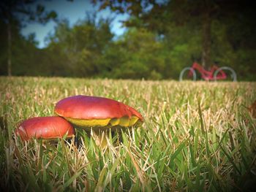
[[[7,73],[12,75],[12,28],[16,23],[25,21],[37,21],[46,23],[52,18],[56,18],[56,12],[45,11],[45,7],[37,4],[35,11],[31,10],[30,5],[35,4],[36,0],[2,0],[0,1],[0,19],[7,25]]]

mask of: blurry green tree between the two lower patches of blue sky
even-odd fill
[[[65,65],[64,69],[71,69],[69,74],[76,77],[97,76],[102,72],[102,57],[113,39],[110,23],[108,18],[97,21],[96,15],[89,13],[85,20],[78,21],[72,27],[67,20],[63,20],[49,37],[48,47],[51,47],[50,50],[58,47],[59,54],[55,57],[67,58],[61,65]]]

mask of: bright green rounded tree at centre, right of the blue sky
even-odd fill
[[[102,77],[118,79],[162,79],[165,59],[162,43],[145,28],[129,28],[110,44],[101,60]]]

